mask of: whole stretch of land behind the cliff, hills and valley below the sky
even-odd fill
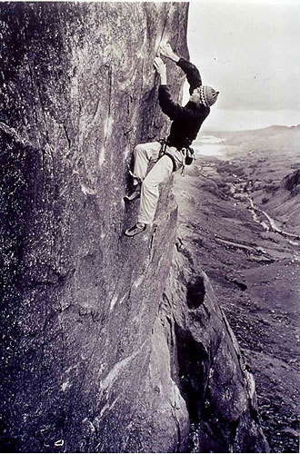
[[[297,452],[299,128],[223,136],[225,157],[197,157],[176,178],[178,241],[207,273],[254,372],[271,451]]]

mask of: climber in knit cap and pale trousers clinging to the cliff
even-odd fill
[[[177,56],[170,44],[160,45],[160,54],[169,58],[185,72],[190,98],[185,106],[175,103],[166,83],[166,67],[160,57],[155,57],[155,71],[160,76],[158,100],[164,114],[171,120],[170,134],[165,144],[161,142],[138,144],[134,151],[133,190],[125,196],[126,202],[140,197],[140,206],[135,225],[125,231],[126,236],[144,232],[153,222],[158,202],[160,183],[185,165],[186,147],[195,140],[202,123],[215,104],[219,92],[203,85],[200,73],[194,64]],[[162,153],[163,150],[163,153]],[[148,164],[155,163],[149,173]]]

